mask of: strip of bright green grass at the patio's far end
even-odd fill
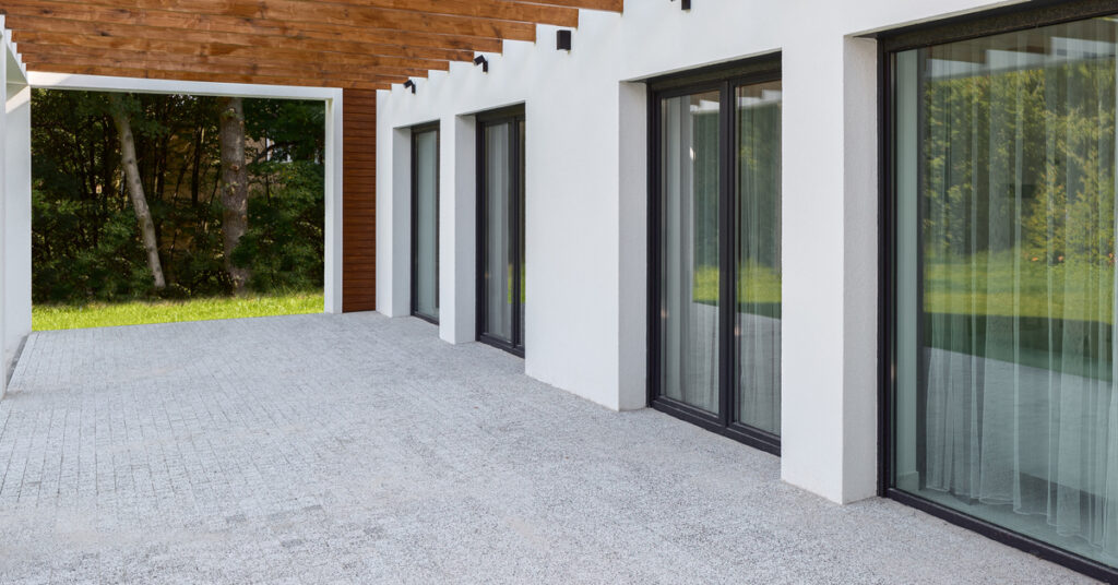
[[[132,301],[84,305],[36,304],[31,310],[31,322],[36,331],[50,331],[321,313],[322,305],[321,292],[195,299],[190,301]]]

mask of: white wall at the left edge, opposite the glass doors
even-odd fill
[[[0,397],[31,332],[31,89],[0,17]]]

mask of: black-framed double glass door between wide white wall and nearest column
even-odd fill
[[[779,60],[700,79],[653,84],[651,402],[775,452]]]

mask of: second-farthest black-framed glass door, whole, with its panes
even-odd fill
[[[524,351],[524,115],[479,116],[477,339]]]

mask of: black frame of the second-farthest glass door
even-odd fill
[[[523,301],[520,298],[521,283],[520,266],[524,263],[524,235],[521,224],[524,215],[524,186],[521,177],[520,159],[527,158],[524,145],[520,139],[520,124],[525,123],[524,106],[515,105],[502,107],[477,114],[476,116],[476,163],[477,163],[477,247],[476,247],[476,317],[477,317],[477,341],[487,343],[499,349],[503,349],[514,356],[524,357],[524,323],[521,318]],[[485,332],[486,308],[485,308],[485,243],[489,235],[489,220],[485,197],[486,179],[486,150],[485,129],[508,124],[509,132],[509,171],[510,171],[510,194],[512,208],[509,210],[509,236],[517,245],[513,247],[515,254],[512,260],[512,340],[504,340]],[[525,129],[527,132],[527,129]]]

